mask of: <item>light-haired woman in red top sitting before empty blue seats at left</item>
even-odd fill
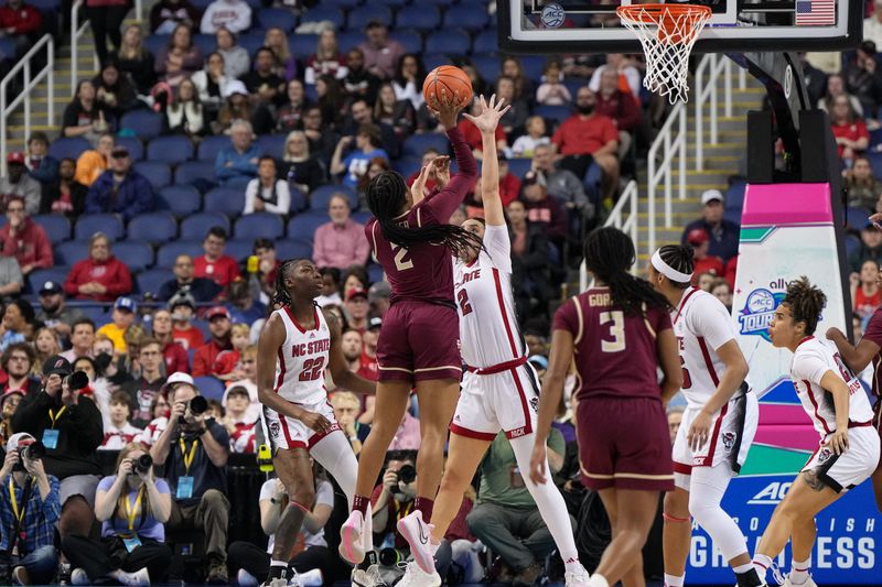
[[[88,259],[74,264],[64,282],[64,291],[77,300],[95,302],[112,302],[131,292],[129,268],[114,257],[107,235],[93,235],[89,239]]]

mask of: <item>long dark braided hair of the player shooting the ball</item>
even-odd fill
[[[440,224],[413,228],[398,222],[396,217],[405,205],[407,189],[405,178],[394,171],[383,172],[367,184],[367,206],[386,240],[404,249],[415,244],[443,244],[455,257],[482,248],[477,235],[459,226]]]

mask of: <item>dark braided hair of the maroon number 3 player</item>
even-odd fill
[[[584,254],[588,270],[610,286],[613,304],[625,315],[643,314],[644,305],[669,307],[668,301],[648,281],[628,273],[637,254],[631,238],[617,228],[592,231],[585,239]]]

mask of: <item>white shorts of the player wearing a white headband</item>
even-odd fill
[[[686,409],[677,439],[674,442],[674,472],[680,480],[685,477],[687,483],[692,467],[713,467],[720,463],[729,463],[732,472],[738,474],[747,458],[760,421],[756,395],[752,392],[743,393],[729,400],[729,403],[713,415],[708,442],[698,450],[692,450],[686,436],[700,411],[700,406]],[[680,486],[678,482],[677,487]],[[689,487],[687,485],[681,489],[688,490]]]

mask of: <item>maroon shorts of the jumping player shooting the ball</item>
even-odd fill
[[[379,381],[462,378],[460,318],[452,307],[396,302],[383,317],[377,343]]]

